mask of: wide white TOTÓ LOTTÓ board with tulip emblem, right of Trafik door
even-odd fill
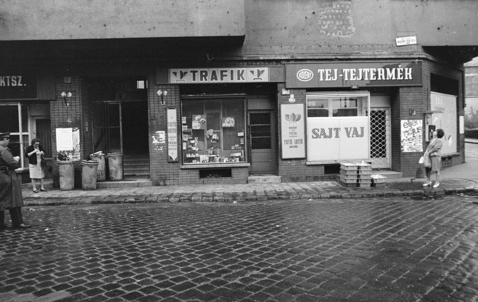
[[[304,158],[304,104],[281,104],[282,158]]]

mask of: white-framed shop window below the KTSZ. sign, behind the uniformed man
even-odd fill
[[[26,147],[30,145],[28,106],[20,103],[0,104],[0,112],[0,132],[10,132],[8,147],[13,156],[21,158],[21,168],[28,168],[28,158],[24,155]]]

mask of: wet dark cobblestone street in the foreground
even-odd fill
[[[476,301],[476,200],[25,207],[0,301]]]

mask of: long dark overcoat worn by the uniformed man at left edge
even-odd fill
[[[0,171],[0,211],[14,207],[22,207],[22,181],[15,171],[18,162],[13,159],[8,147],[0,145],[0,166],[8,168],[8,175]]]

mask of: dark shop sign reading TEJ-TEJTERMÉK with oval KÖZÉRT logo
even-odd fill
[[[286,88],[422,85],[422,62],[288,63]]]

